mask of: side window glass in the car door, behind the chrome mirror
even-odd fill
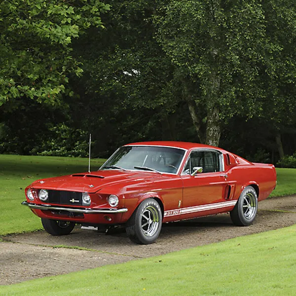
[[[221,172],[220,153],[218,151],[191,152],[184,168],[184,174],[192,174],[194,167],[202,167],[203,173]]]

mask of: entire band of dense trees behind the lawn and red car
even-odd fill
[[[2,1],[0,37],[2,153],[86,155],[89,132],[98,156],[139,140],[296,149],[292,0]]]

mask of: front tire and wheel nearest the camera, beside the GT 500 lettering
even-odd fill
[[[136,244],[154,243],[159,236],[162,225],[162,212],[159,203],[148,198],[135,210],[126,223],[126,233]]]

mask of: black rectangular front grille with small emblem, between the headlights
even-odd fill
[[[48,202],[63,205],[82,205],[82,193],[74,191],[48,190]]]

